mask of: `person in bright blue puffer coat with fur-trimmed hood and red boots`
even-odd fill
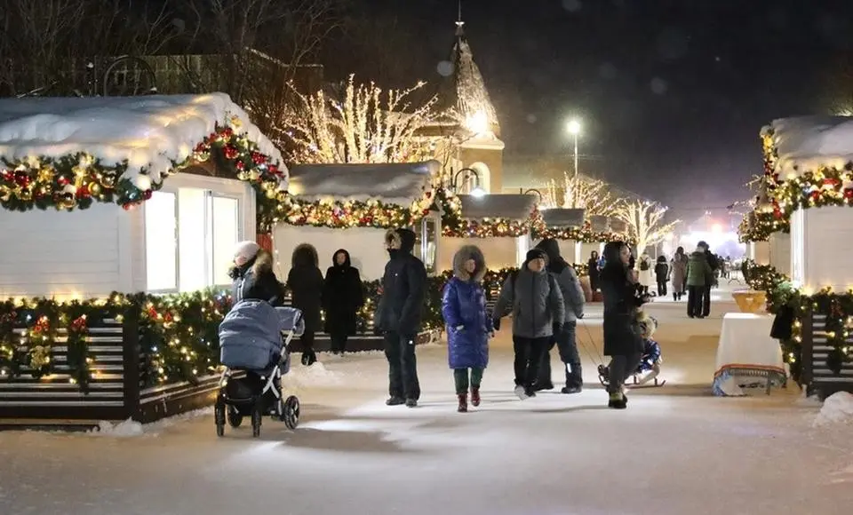
[[[486,314],[486,297],[481,285],[485,273],[482,251],[474,245],[466,245],[453,256],[453,277],[442,294],[447,356],[456,383],[459,413],[468,410],[469,386],[471,404],[480,405],[482,372],[489,364],[489,337],[494,334],[494,328],[491,317]]]

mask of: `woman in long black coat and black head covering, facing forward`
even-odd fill
[[[355,335],[356,313],[362,305],[364,292],[358,268],[350,263],[347,250],[336,250],[323,282],[325,330],[331,337],[332,353],[346,352],[347,337]]]

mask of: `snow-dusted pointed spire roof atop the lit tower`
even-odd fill
[[[491,131],[499,134],[498,112],[491,103],[480,68],[474,62],[474,54],[471,52],[463,25],[465,22],[461,19],[456,22],[456,42],[449,59],[453,71],[442,82],[438,107],[442,110],[452,108],[463,118],[482,113]]]

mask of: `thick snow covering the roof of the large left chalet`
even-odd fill
[[[245,132],[259,152],[278,160],[286,180],[282,155],[225,93],[0,99],[0,157],[11,161],[85,152],[109,164],[127,160],[131,179],[144,169],[159,181],[173,162],[192,155],[217,123]]]

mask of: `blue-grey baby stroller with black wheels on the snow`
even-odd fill
[[[282,376],[291,368],[291,339],[304,330],[298,309],[273,307],[262,300],[234,305],[219,324],[219,361],[226,368],[213,412],[217,436],[225,434],[226,420],[237,428],[243,416],[251,417],[253,437],[260,436],[264,415],[296,429],[299,399],[295,395],[284,399]]]

